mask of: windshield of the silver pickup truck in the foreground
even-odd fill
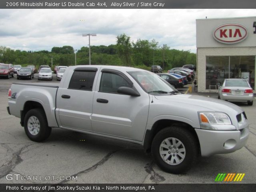
[[[172,93],[176,91],[170,84],[152,72],[131,71],[128,73],[148,93]]]

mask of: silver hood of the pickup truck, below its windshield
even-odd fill
[[[239,106],[230,102],[206,96],[180,94],[171,96],[155,96],[155,98],[166,102],[175,102],[177,105],[178,103],[188,104],[188,108],[196,108],[196,106],[198,106],[200,108],[205,108],[206,111],[220,111],[227,114],[230,112],[234,113],[234,111],[236,111],[236,114],[240,114],[244,111]],[[168,105],[168,103],[166,104]]]

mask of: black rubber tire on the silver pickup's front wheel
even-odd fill
[[[176,144],[178,144],[178,141],[180,141],[182,144],[176,146],[175,144],[170,142],[169,146],[171,147],[164,148],[166,150],[162,150],[163,147],[160,148],[162,142],[164,142],[166,139],[172,140],[172,138],[175,138],[175,140],[177,141]],[[171,126],[160,130],[152,141],[151,149],[156,164],[162,170],[173,174],[180,174],[189,170],[192,165],[195,164],[199,153],[198,144],[194,136],[185,128],[178,126]],[[162,152],[166,151],[166,155],[160,155],[160,149],[162,150]],[[177,149],[180,150],[178,153]],[[182,152],[182,150],[184,150],[185,152]],[[166,162],[162,158],[167,155],[168,158]],[[182,155],[184,156],[184,158],[182,158]],[[175,160],[174,158],[178,158],[178,160],[181,160],[181,162],[177,162],[177,160]],[[171,160],[173,161],[173,165],[170,164]]]

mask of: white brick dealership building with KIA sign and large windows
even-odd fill
[[[196,20],[198,92],[217,92],[224,78],[256,90],[256,17]]]

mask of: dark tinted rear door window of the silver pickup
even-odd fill
[[[91,91],[96,71],[74,71],[69,86],[69,89]]]

